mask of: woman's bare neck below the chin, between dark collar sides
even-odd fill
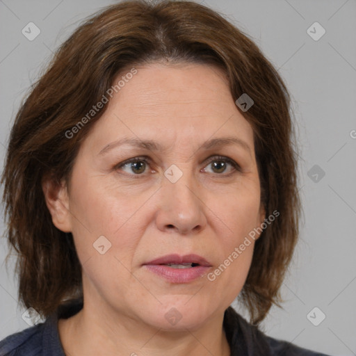
[[[113,314],[84,303],[83,309],[58,321],[66,355],[229,356],[223,314],[196,330],[165,331],[125,314]]]

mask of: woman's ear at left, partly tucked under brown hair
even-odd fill
[[[72,232],[69,195],[65,180],[56,181],[53,177],[42,179],[42,191],[54,226],[63,232]]]

